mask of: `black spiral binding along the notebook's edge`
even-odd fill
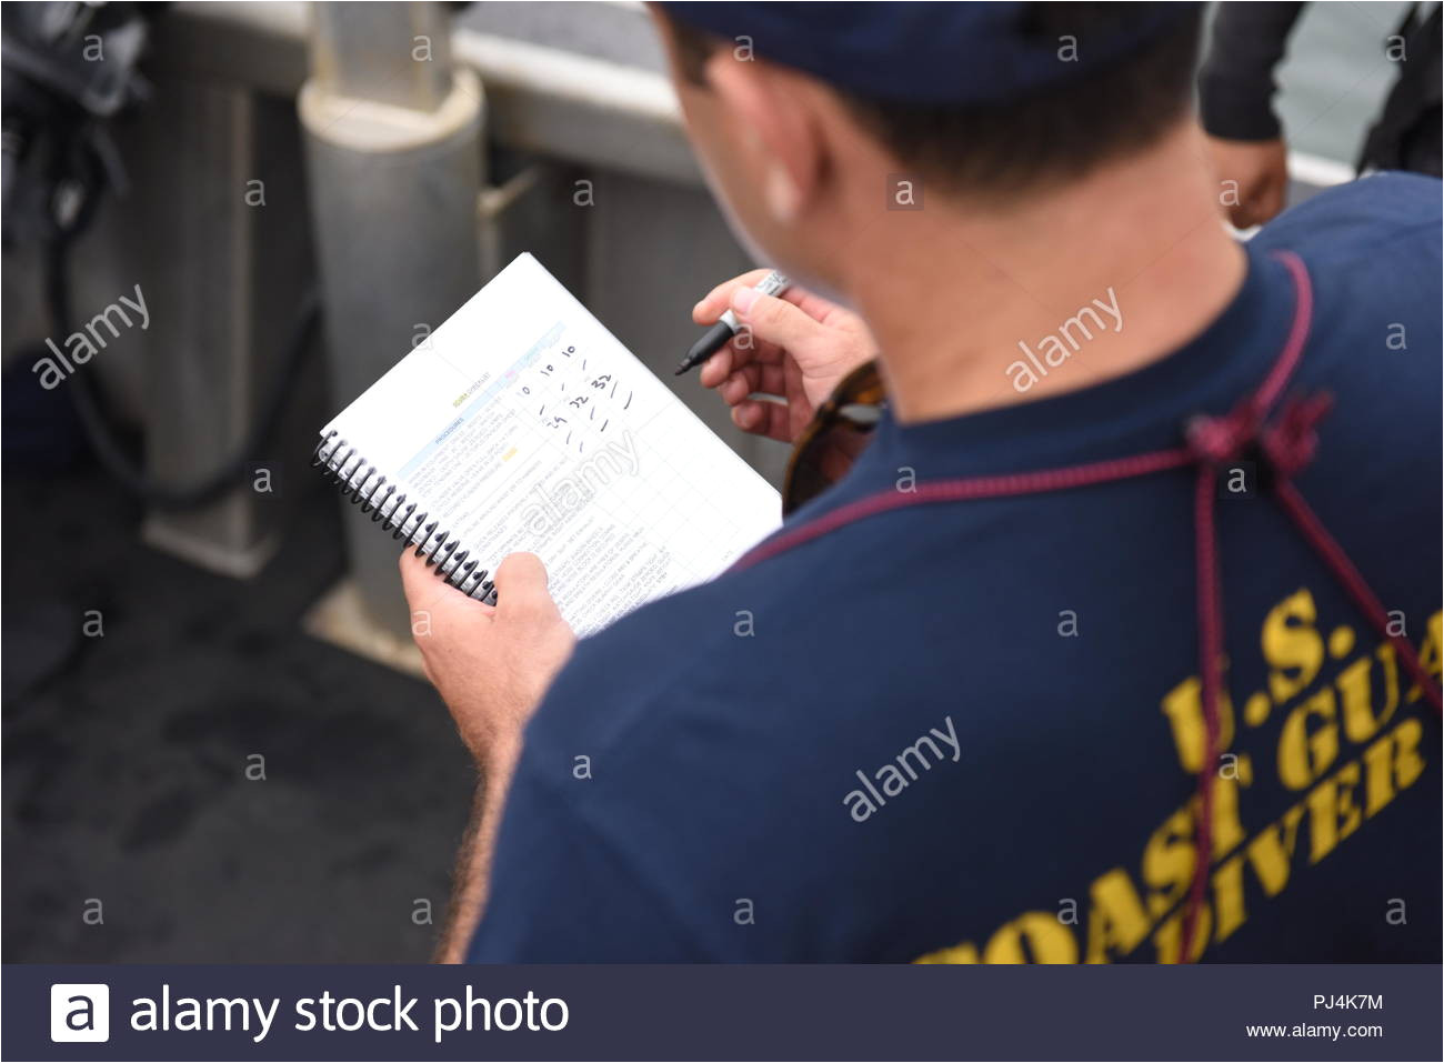
[[[335,443],[332,443],[335,438]],[[326,445],[331,445],[326,449]],[[351,459],[355,458],[355,464]],[[367,464],[355,446],[347,446],[336,438],[335,429],[322,436],[310,458],[312,468],[319,468],[323,477],[341,487],[341,495],[360,506],[361,513],[371,514],[373,521],[381,521],[381,529],[393,539],[401,539],[416,547],[416,556],[425,557],[436,575],[462,594],[497,604],[497,588],[487,579],[487,569],[477,568],[477,559],[468,560],[469,550],[455,553],[459,539],[452,539],[445,530],[438,530],[438,521],[427,523],[429,511],[417,513],[416,503],[406,501],[406,493],[396,493],[396,484],[387,485],[386,477],[377,475],[375,465]],[[383,494],[378,493],[386,488]],[[404,506],[404,510],[403,510]],[[399,516],[400,514],[400,516]]]

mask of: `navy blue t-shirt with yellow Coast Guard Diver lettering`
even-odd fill
[[[1193,342],[1087,390],[885,419],[788,524],[1177,446],[1278,357],[1328,390],[1295,484],[1440,670],[1440,183],[1320,195]],[[1086,354],[1086,351],[1083,352]],[[1082,355],[1080,355],[1082,357]],[[1177,956],[1199,757],[1194,477],[901,508],[638,609],[526,737],[472,960]],[[1212,960],[1440,959],[1440,726],[1266,495],[1217,504]]]

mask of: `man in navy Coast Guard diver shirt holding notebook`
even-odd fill
[[[530,555],[495,611],[403,560],[484,777],[445,959],[1438,959],[1438,183],[1239,246],[1197,13],[1118,7],[654,9],[812,289],[705,299],[761,341],[705,383],[793,438],[879,352],[888,407],[575,648]]]

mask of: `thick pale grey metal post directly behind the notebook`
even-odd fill
[[[300,90],[331,396],[341,409],[475,292],[482,92],[446,4],[310,4]],[[397,416],[404,416],[397,410]],[[404,635],[396,543],[345,519],[368,618]]]

